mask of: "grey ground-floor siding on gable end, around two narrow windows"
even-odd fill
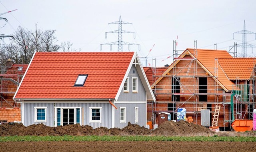
[[[116,103],[115,106],[118,108],[118,111],[115,109],[115,127],[124,128],[128,122],[146,127],[146,103]],[[126,107],[125,123],[120,123],[120,107]],[[138,123],[135,123],[135,107],[139,107]]]

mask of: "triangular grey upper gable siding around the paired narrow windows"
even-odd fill
[[[118,97],[118,101],[146,101],[146,91],[142,85],[140,76],[134,65],[132,65],[132,68],[129,71],[128,77],[129,77],[129,93],[124,93],[124,86],[122,86],[122,91]],[[132,77],[138,77],[138,93],[132,93]]]

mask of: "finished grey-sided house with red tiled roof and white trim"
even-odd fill
[[[154,102],[136,52],[36,52],[14,95],[25,126],[146,126]]]

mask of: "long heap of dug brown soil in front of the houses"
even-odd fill
[[[86,136],[86,135],[118,135],[118,136],[136,136],[136,135],[158,135],[158,136],[212,136],[214,132],[208,128],[189,123],[186,121],[166,121],[155,130],[149,130],[138,124],[131,124],[122,129],[99,127],[93,129],[92,126],[72,124],[66,126],[50,127],[44,124],[32,124],[24,126],[23,124],[2,124],[0,125],[0,136]]]

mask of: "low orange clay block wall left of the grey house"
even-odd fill
[[[0,108],[0,120],[8,122],[21,121],[20,108]]]

